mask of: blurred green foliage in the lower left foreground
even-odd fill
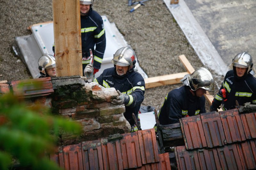
[[[49,159],[60,132],[81,133],[81,126],[50,114],[42,105],[26,106],[11,93],[0,95],[0,169],[12,169],[13,160],[31,169],[60,169]]]

